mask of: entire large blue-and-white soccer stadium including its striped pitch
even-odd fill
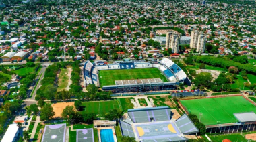
[[[84,86],[95,84],[113,93],[174,90],[180,83],[191,85],[177,64],[163,58],[156,64],[148,62],[116,62],[107,65],[84,64]]]

